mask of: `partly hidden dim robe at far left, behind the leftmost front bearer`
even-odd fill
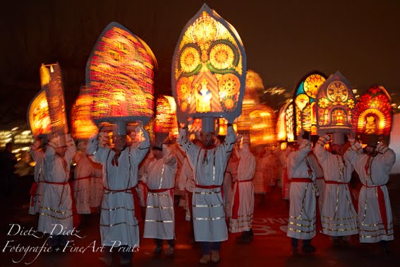
[[[35,215],[36,213],[39,212],[43,198],[44,152],[43,150],[37,150],[32,148],[32,150],[30,150],[30,155],[32,155],[32,159],[35,160],[35,170],[33,177],[35,179],[35,183],[37,183],[37,190],[35,196],[30,197],[30,205],[28,213],[31,215]]]

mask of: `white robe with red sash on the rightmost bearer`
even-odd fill
[[[381,240],[389,241],[394,239],[392,208],[390,207],[386,184],[389,182],[389,172],[396,161],[396,154],[392,149],[382,145],[382,143],[376,149],[379,153],[374,158],[370,158],[368,155],[360,153],[362,149],[357,142],[344,155],[354,166],[363,183],[358,196],[358,224],[360,227],[360,242],[362,243],[375,243]],[[365,170],[366,165],[369,165],[367,170]],[[387,231],[380,213],[379,193],[383,193],[382,200],[384,200],[384,210],[387,216]]]

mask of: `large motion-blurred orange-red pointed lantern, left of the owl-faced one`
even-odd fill
[[[86,66],[86,85],[93,104],[95,124],[116,124],[126,134],[126,124],[153,114],[154,65],[150,47],[119,23],[110,23],[96,42]]]

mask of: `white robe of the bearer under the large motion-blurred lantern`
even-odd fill
[[[150,146],[147,131],[142,131],[145,141],[138,147],[129,146],[123,150],[118,166],[112,164],[114,150],[97,146],[97,139],[91,139],[87,146],[87,154],[94,153],[95,161],[103,166],[103,185],[106,189],[100,215],[100,235],[104,246],[139,247],[139,227],[131,189],[136,190],[138,166]]]

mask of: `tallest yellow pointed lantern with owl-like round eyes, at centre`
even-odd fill
[[[214,131],[214,118],[234,121],[241,114],[246,85],[243,44],[234,27],[206,4],[183,29],[172,70],[179,122],[202,118],[202,131]]]

